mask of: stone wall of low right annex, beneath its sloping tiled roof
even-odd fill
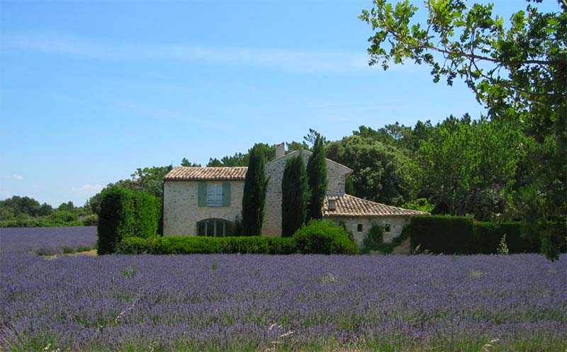
[[[337,217],[329,217],[330,220],[339,224],[344,224],[347,227],[347,230],[352,233],[354,240],[357,244],[362,245],[366,234],[369,232],[372,225],[381,225],[384,226],[386,224],[390,225],[390,231],[384,232],[384,242],[389,243],[392,242],[394,237],[398,237],[402,233],[402,229],[405,225],[410,223],[410,216],[369,216],[369,217],[346,217],[346,216],[337,216]],[[358,231],[359,225],[362,225],[362,231]]]

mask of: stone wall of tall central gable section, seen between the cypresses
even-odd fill
[[[283,157],[270,161],[266,164],[266,176],[269,177],[268,188],[266,191],[266,205],[264,207],[264,225],[262,232],[269,237],[281,236],[281,180],[283,169],[290,157],[295,157],[297,153],[302,153],[303,162],[307,162],[311,152],[307,150],[291,152]],[[344,194],[344,183],[351,169],[337,164],[335,161],[327,159],[327,195]]]

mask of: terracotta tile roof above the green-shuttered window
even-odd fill
[[[179,166],[169,171],[164,181],[244,181],[246,166],[237,167],[187,167]]]

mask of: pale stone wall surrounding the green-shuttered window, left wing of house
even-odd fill
[[[164,235],[194,236],[197,234],[197,222],[205,219],[224,219],[234,222],[242,213],[244,181],[229,182],[230,206],[199,207],[199,181],[165,181]],[[223,181],[207,181],[207,183],[223,183]]]

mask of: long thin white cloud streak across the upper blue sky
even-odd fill
[[[198,47],[192,45],[132,45],[100,42],[67,34],[5,34],[3,50],[96,59],[167,59],[270,67],[298,72],[344,72],[369,69],[361,52],[308,51],[262,47]]]

